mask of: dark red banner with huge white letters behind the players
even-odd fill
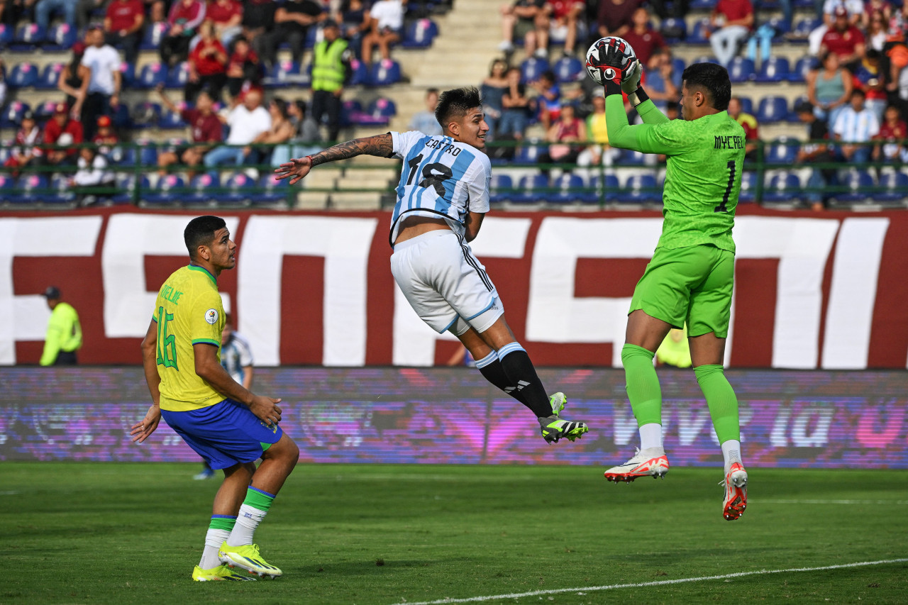
[[[0,215],[0,364],[35,363],[63,291],[90,364],[141,362],[163,280],[187,262],[198,211]],[[389,269],[390,213],[219,212],[239,244],[224,306],[256,365],[443,363],[459,346],[419,321]],[[661,216],[491,213],[472,243],[508,323],[540,366],[618,366],[627,306]],[[905,368],[908,213],[739,211],[726,362]]]

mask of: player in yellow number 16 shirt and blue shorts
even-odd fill
[[[161,286],[142,341],[153,404],[133,425],[133,441],[145,441],[163,417],[212,469],[224,472],[192,580],[253,580],[235,567],[276,578],[281,570],[262,559],[252,537],[300,450],[278,425],[281,400],[243,388],[219,360],[225,315],[217,279],[236,265],[227,225],[200,216],[183,238],[189,264]]]

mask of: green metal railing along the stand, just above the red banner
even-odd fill
[[[777,171],[792,172],[795,170],[812,169],[825,173],[827,175],[850,172],[852,170],[864,171],[868,174],[881,174],[887,171],[901,171],[908,164],[901,164],[892,161],[875,160],[862,164],[844,163],[825,159],[823,162],[810,162],[802,164],[789,164],[785,162],[773,161],[776,154],[770,154],[776,145],[784,145],[796,149],[804,145],[830,145],[829,141],[775,141],[775,142],[757,142],[755,158],[753,161],[745,162],[745,186],[742,189],[741,201],[762,203],[772,205],[774,203],[786,203],[788,205],[813,199],[815,196],[826,199],[842,196],[843,194],[857,193],[859,196],[864,195],[873,199],[876,193],[887,193],[888,202],[891,205],[903,206],[908,204],[908,188],[902,188],[893,179],[893,183],[883,184],[874,180],[873,183],[862,183],[860,179],[854,178],[839,179],[838,183],[826,182],[820,186],[808,187],[805,183],[799,183],[796,188],[772,187],[775,180],[770,177]],[[883,143],[870,142],[857,144],[861,146],[876,147]],[[888,143],[887,143],[888,144]],[[908,147],[908,141],[901,141]],[[292,147],[301,149],[319,144],[293,143]],[[72,145],[67,147],[53,147],[41,145],[45,148],[44,154],[50,149],[67,149],[78,150],[84,147],[94,146],[91,144]],[[162,151],[167,151],[173,147],[183,148],[185,144],[116,144],[109,145],[110,152],[108,157],[118,159],[119,162],[111,161],[108,164],[107,172],[114,174],[115,181],[112,184],[104,186],[85,187],[75,190],[72,185],[66,183],[65,177],[72,176],[76,172],[74,165],[58,166],[47,164],[36,164],[34,161],[25,167],[15,168],[10,166],[0,167],[0,199],[9,206],[31,203],[37,206],[61,207],[66,205],[77,205],[79,199],[94,198],[95,201],[110,203],[132,203],[135,205],[147,204],[171,204],[171,205],[212,205],[221,203],[224,205],[256,205],[268,203],[274,207],[292,208],[296,203],[297,193],[305,191],[308,193],[324,193],[326,196],[331,193],[390,193],[394,186],[395,179],[389,179],[386,185],[379,187],[357,187],[355,183],[345,183],[341,189],[337,187],[318,187],[311,186],[305,180],[295,186],[287,186],[286,182],[274,182],[271,178],[265,178],[266,175],[272,174],[275,166],[272,164],[222,164],[217,167],[208,168],[203,164],[188,166],[183,164],[171,164],[164,170],[159,170],[156,164],[156,157]],[[256,150],[268,151],[278,145],[261,144],[249,145]],[[578,145],[578,148],[587,145]],[[150,153],[150,147],[154,152]],[[615,179],[610,178],[616,174],[616,171],[628,169],[631,172],[637,171],[639,174],[653,174],[654,170],[663,167],[664,164],[654,164],[655,156],[647,156],[646,164],[639,162],[621,162],[617,161],[611,165],[596,164],[587,166],[578,166],[577,164],[565,163],[541,163],[538,161],[538,154],[528,153],[528,150],[535,149],[539,154],[545,152],[548,144],[540,141],[525,141],[523,143],[515,142],[496,142],[489,143],[488,151],[493,158],[492,174],[501,171],[510,171],[511,169],[532,169],[535,174],[584,174],[590,178],[583,180],[583,186],[560,187],[556,181],[552,180],[546,187],[538,187],[527,190],[518,182],[512,183],[510,187],[500,187],[493,183],[492,197],[493,200],[512,201],[515,203],[526,203],[528,201],[550,201],[558,202],[582,202],[590,206],[598,205],[601,208],[615,207],[617,205],[627,205],[621,200],[622,195],[627,197],[627,193],[633,191],[637,193],[636,201],[645,205],[657,206],[661,204],[662,184],[655,181],[655,185],[640,186],[634,189],[626,186],[614,185]],[[76,151],[76,157],[79,152]],[[628,152],[622,152],[627,157]],[[504,159],[498,159],[503,156]],[[784,156],[783,156],[784,157]],[[128,158],[123,161],[123,158]],[[337,162],[332,164],[323,164],[318,170],[326,171],[345,171],[350,168],[360,170],[385,170],[392,168],[393,164],[364,164],[350,162]],[[226,183],[225,174],[245,173],[255,170],[258,176],[253,179],[253,183],[244,183],[239,186],[229,186]],[[217,173],[219,178],[215,181],[206,179],[192,180],[191,174],[212,174]],[[52,180],[52,174],[63,175],[63,178]],[[164,183],[172,181],[170,186],[154,186],[154,179],[148,179],[152,174],[161,174],[160,178]],[[503,174],[503,173],[502,173]],[[533,174],[533,173],[528,173]],[[750,176],[753,174],[753,176]],[[40,178],[33,177],[44,176],[43,182]],[[181,180],[176,180],[179,176]],[[10,183],[8,180],[13,179]],[[341,178],[343,178],[341,173]],[[147,179],[147,181],[146,181]],[[170,179],[170,181],[168,181]],[[222,182],[222,180],[224,182]],[[54,186],[54,184],[56,186]],[[902,190],[904,189],[904,191]],[[899,195],[901,193],[901,196]],[[815,194],[815,195],[813,195]],[[220,200],[220,202],[219,202]]]

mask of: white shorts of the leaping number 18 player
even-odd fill
[[[435,332],[485,332],[504,313],[495,284],[457,233],[436,230],[394,246],[391,274]]]

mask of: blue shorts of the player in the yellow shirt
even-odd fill
[[[162,410],[161,415],[212,469],[254,462],[283,435],[277,424],[266,424],[232,399],[190,412]]]

